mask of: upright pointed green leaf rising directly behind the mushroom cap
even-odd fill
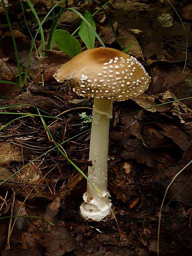
[[[85,19],[90,24],[90,26],[96,31],[95,21],[93,20],[92,15],[87,10],[85,11]],[[95,34],[90,30],[90,27],[82,21],[79,36],[81,37],[82,41],[85,43],[87,49],[92,49],[95,46]]]

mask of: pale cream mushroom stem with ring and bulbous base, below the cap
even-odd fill
[[[89,156],[92,166],[89,167],[88,177],[102,193],[108,204],[87,182],[87,191],[83,195],[84,202],[81,204],[80,210],[84,218],[96,221],[105,218],[110,213],[110,206],[112,205],[107,190],[107,160],[112,104],[112,100],[94,98]]]

